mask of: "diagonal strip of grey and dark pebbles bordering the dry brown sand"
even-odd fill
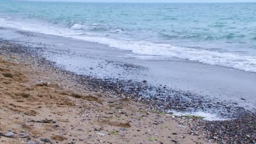
[[[4,44],[5,47],[3,47],[3,43],[5,43]],[[92,91],[95,89],[94,87],[90,87],[91,86],[90,82],[93,84],[100,83],[101,86],[108,85],[106,88],[101,87],[101,91],[104,91],[104,93],[107,92],[107,96],[110,94],[110,95],[114,95],[114,98],[122,98],[122,99],[127,98],[127,96],[125,96],[125,94],[122,93],[123,91],[117,91],[115,86],[109,85],[109,83],[106,83],[106,82],[104,83],[103,81],[101,81],[99,79],[92,80],[91,77],[83,76],[83,75],[75,75],[72,72],[68,72],[68,71],[62,70],[58,67],[54,67],[54,64],[51,61],[47,61],[46,59],[36,55],[34,53],[35,51],[29,52],[29,49],[31,49],[29,47],[17,45],[15,43],[10,43],[10,41],[4,41],[4,40],[1,40],[0,44],[1,44],[1,50],[0,50],[1,55],[6,56],[7,53],[8,54],[12,53],[13,55],[19,56],[20,59],[23,59],[23,61],[30,60],[30,61],[27,61],[27,63],[29,63],[29,62],[30,62],[30,64],[33,63],[33,65],[35,67],[38,67],[43,71],[45,71],[46,69],[48,69],[48,70],[51,69],[53,73],[57,73],[57,74],[59,73],[59,74],[63,75],[65,77],[65,80],[69,81],[70,79],[72,79],[72,83],[76,83],[76,85],[83,85],[81,87],[85,87],[85,89],[86,89],[86,90],[84,90],[84,88],[83,88],[83,91]],[[81,81],[79,81],[79,79],[83,80],[83,82],[86,81],[88,83],[87,84],[81,83]],[[89,87],[86,87],[86,86],[89,86]],[[69,86],[64,86],[64,87],[69,87]],[[74,91],[76,91],[76,87],[77,86],[73,86],[70,88],[72,90],[74,89]],[[96,89],[97,89],[97,87],[96,87]],[[98,92],[99,92],[99,90],[98,90]],[[129,93],[129,94],[131,95],[131,93]],[[155,111],[155,109],[148,109],[148,107],[152,107],[156,104],[162,104],[162,102],[163,102],[163,101],[160,101],[157,99],[155,99],[155,100],[150,99],[150,101],[149,101],[148,99],[140,98],[140,96],[134,96],[134,97],[129,96],[129,99],[131,99],[132,101],[134,101],[135,103],[138,103],[138,104],[143,100],[146,101],[146,102],[144,102],[144,104],[142,103],[143,107],[144,107],[144,109],[146,109],[145,111],[149,111],[149,112],[151,112],[151,114],[152,114],[152,111],[153,112]],[[164,116],[166,116],[166,114],[163,113],[163,111],[158,112],[159,109],[156,109],[156,110],[157,111],[155,111],[155,112],[157,112],[158,115],[164,114]],[[143,111],[143,112],[145,112],[145,111]],[[175,117],[174,119],[178,118],[178,120],[175,120],[178,123],[180,123],[180,121],[183,121],[183,123],[186,123],[184,121],[187,121],[190,123],[187,125],[188,128],[192,129],[192,131],[187,132],[187,134],[189,136],[204,135],[208,140],[216,141],[219,143],[226,143],[228,141],[237,141],[237,142],[255,141],[254,137],[255,137],[255,124],[256,124],[255,117],[256,117],[256,115],[251,112],[244,113],[244,115],[242,115],[243,112],[246,112],[246,111],[242,111],[237,116],[237,119],[229,120],[229,121],[209,122],[209,121],[201,120],[200,117]],[[237,122],[239,122],[238,127],[236,125]],[[197,125],[197,126],[195,126],[195,125]],[[213,126],[211,126],[211,125],[213,125]],[[227,128],[223,128],[222,127],[223,125],[224,125],[224,127],[227,127]],[[235,128],[235,129],[233,129],[233,128]],[[223,135],[223,133],[226,133],[226,135]],[[243,133],[243,134],[237,135],[237,133],[238,134]],[[249,133],[249,135],[246,133]],[[210,135],[213,135],[213,136],[210,137]],[[247,135],[250,136],[250,138],[248,138]]]

